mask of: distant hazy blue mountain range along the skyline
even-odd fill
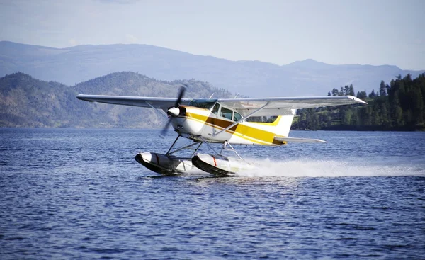
[[[283,50],[290,52],[290,50]],[[140,44],[79,45],[53,48],[0,42],[0,77],[23,72],[45,81],[74,85],[113,72],[138,72],[154,79],[196,79],[251,97],[324,96],[353,84],[377,90],[381,80],[421,71],[382,65],[332,65],[303,60],[279,66],[259,61],[230,61]],[[119,86],[122,87],[122,86]]]

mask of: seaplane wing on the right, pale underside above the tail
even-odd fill
[[[255,116],[263,115],[292,115],[293,109],[317,108],[322,106],[352,105],[365,103],[354,96],[307,96],[292,98],[225,98],[218,99],[225,106],[229,106],[246,116],[256,110]]]

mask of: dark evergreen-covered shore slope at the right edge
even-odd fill
[[[386,84],[369,94],[356,96],[368,105],[310,108],[297,111],[293,129],[299,130],[425,130],[425,74],[412,79],[410,74]],[[353,95],[354,87],[333,89],[329,96]]]

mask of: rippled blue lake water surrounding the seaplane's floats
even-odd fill
[[[158,174],[174,132],[0,129],[0,259],[425,259],[425,132],[235,146],[247,176]]]

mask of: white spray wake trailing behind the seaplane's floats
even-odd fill
[[[256,166],[240,176],[339,177],[339,176],[425,176],[425,168],[408,165],[358,165],[350,162],[296,159],[276,162],[247,159]]]

